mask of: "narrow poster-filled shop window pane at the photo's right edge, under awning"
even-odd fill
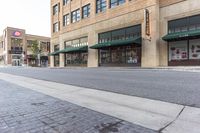
[[[200,59],[200,39],[189,41],[189,59]]]

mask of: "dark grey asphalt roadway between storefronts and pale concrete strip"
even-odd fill
[[[200,107],[200,73],[122,68],[0,68],[0,72]]]

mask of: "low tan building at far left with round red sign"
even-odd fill
[[[38,55],[32,52],[32,44],[38,43]],[[7,27],[0,37],[0,65],[48,66],[50,38],[26,34],[24,29]]]

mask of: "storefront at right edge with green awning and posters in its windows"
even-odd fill
[[[169,66],[200,65],[200,15],[169,21],[168,34]]]

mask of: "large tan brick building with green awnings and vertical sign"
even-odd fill
[[[200,65],[198,0],[51,0],[51,67]]]

